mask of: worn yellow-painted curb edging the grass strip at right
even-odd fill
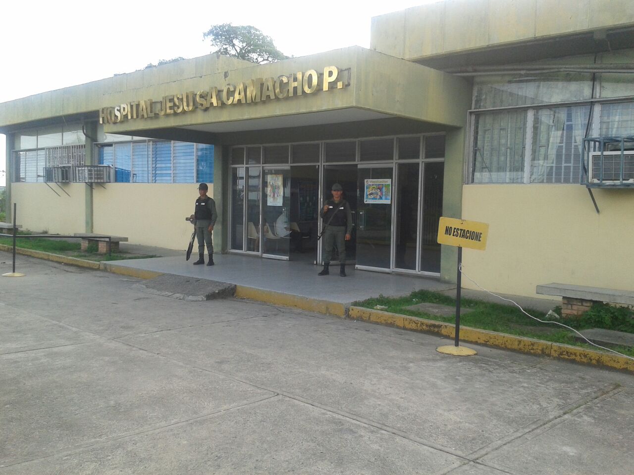
[[[411,331],[439,334],[447,338],[453,338],[455,335],[455,325],[450,323],[391,314],[382,310],[373,310],[372,308],[350,307],[348,318]],[[562,345],[561,343],[524,338],[495,331],[461,326],[460,341],[634,372],[634,360],[630,358],[597,352],[579,346]]]

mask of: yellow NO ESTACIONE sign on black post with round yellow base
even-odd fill
[[[438,226],[438,243],[458,248],[458,264],[456,270],[456,331],[453,346],[439,346],[436,351],[446,355],[477,355],[475,350],[460,346],[460,291],[462,290],[462,248],[484,251],[489,225],[476,221],[442,217]]]

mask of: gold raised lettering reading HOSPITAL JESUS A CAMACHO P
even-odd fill
[[[347,75],[342,74],[347,72]],[[100,124],[118,124],[126,120],[182,114],[216,107],[256,104],[275,99],[294,98],[318,91],[344,89],[350,85],[350,70],[326,66],[323,72],[314,69],[293,72],[278,77],[259,77],[238,84],[210,87],[203,91],[183,91],[163,96],[160,101],[139,99],[99,111]],[[346,79],[344,79],[346,76]]]

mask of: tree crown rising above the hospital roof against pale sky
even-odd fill
[[[203,38],[210,39],[215,53],[252,63],[273,63],[288,58],[273,44],[273,39],[255,27],[233,26],[231,23],[212,25]]]

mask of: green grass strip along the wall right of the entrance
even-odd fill
[[[375,308],[377,305],[380,305],[382,307],[386,307],[381,308],[381,310],[384,312],[391,312],[392,314],[408,315],[410,317],[418,317],[445,323],[455,323],[455,315],[442,317],[407,308],[411,305],[423,302],[438,303],[441,305],[449,305],[451,307],[455,307],[456,305],[455,298],[426,290],[418,290],[403,297],[385,297],[380,295],[376,298],[354,302],[353,305],[365,308]],[[559,325],[543,324],[537,320],[530,319],[526,315],[522,314],[517,307],[508,307],[507,305],[472,300],[469,298],[460,299],[460,306],[462,308],[470,308],[473,310],[468,314],[460,316],[460,324],[463,326],[496,331],[515,336],[553,341],[555,343],[563,343],[565,345],[587,346],[588,348],[596,349],[596,347],[593,347],[592,345],[576,341],[571,335],[572,332],[568,329],[560,327]],[[609,305],[604,304],[597,304],[595,307],[596,310],[594,307],[592,309],[594,312],[590,310],[579,319],[560,321],[576,330],[605,328],[609,330],[630,331],[631,333],[634,333],[634,312],[632,312],[632,310],[628,308],[610,307]],[[533,317],[538,319],[553,320],[550,317],[545,317],[544,313],[539,310],[531,310],[527,308],[524,310],[526,310],[529,315],[533,315]],[[557,310],[555,310],[555,313],[557,313]],[[621,348],[621,350],[618,351],[628,356],[634,356],[634,349],[632,348]]]

